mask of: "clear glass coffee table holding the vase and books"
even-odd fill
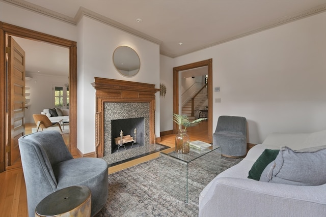
[[[168,170],[160,171],[160,180],[164,182],[164,188],[173,196],[188,203],[189,195],[198,196],[202,189],[197,185],[201,182],[202,175],[210,175],[212,180],[220,173],[221,148],[212,145],[203,150],[191,148],[189,153],[180,154],[175,151],[160,152],[165,157],[165,165]],[[189,177],[192,176],[192,177]],[[191,180],[191,183],[189,182]],[[202,183],[207,185],[208,183]],[[194,186],[190,186],[194,185]]]

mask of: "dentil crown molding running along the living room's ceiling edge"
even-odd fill
[[[0,0],[0,1],[7,2],[7,3],[10,3],[10,4],[16,5],[18,7],[28,9],[28,10],[34,11],[36,13],[40,13],[42,15],[49,16],[49,17],[52,17],[52,18],[55,18],[55,19],[58,19],[58,20],[73,24],[73,25],[77,25],[78,22],[80,21],[80,19],[83,18],[83,16],[87,16],[89,18],[92,18],[94,20],[100,21],[100,22],[105,23],[107,25],[113,26],[115,28],[123,30],[126,33],[132,34],[134,36],[138,36],[138,37],[140,37],[142,39],[148,40],[148,41],[153,42],[155,44],[160,45],[162,43],[162,41],[160,41],[160,40],[158,40],[156,38],[153,38],[153,37],[151,37],[149,35],[141,33],[138,30],[130,28],[130,27],[126,26],[126,25],[123,25],[122,23],[119,23],[119,22],[117,22],[115,20],[107,18],[107,17],[105,17],[103,15],[97,14],[97,13],[95,13],[95,12],[93,12],[91,10],[88,10],[86,8],[83,8],[83,7],[80,7],[78,9],[78,12],[76,13],[75,17],[72,18],[72,17],[66,16],[64,14],[48,10],[46,8],[43,8],[41,6],[26,2],[26,1],[23,1],[23,0]],[[161,50],[160,50],[160,54],[174,58],[174,57],[177,57],[177,56],[193,53],[193,52],[198,51],[198,50],[206,49],[206,48],[209,48],[209,47],[212,47],[212,46],[215,46],[215,45],[219,45],[219,44],[222,44],[222,43],[233,41],[235,39],[239,39],[239,38],[249,36],[249,35],[252,35],[252,34],[255,34],[255,33],[259,33],[259,32],[262,32],[263,30],[274,28],[276,26],[280,26],[280,25],[283,25],[283,24],[286,24],[286,23],[289,23],[289,22],[292,22],[292,21],[295,21],[295,20],[298,20],[298,19],[302,19],[302,18],[305,18],[305,17],[308,17],[308,16],[312,16],[312,15],[315,15],[315,14],[318,14],[318,13],[321,13],[321,12],[324,12],[324,11],[326,11],[326,4],[323,4],[323,5],[320,5],[318,7],[315,7],[315,8],[309,9],[309,10],[305,10],[305,11],[302,11],[302,12],[299,12],[299,13],[296,13],[296,14],[293,14],[291,16],[283,17],[281,19],[275,20],[275,21],[270,22],[269,24],[266,24],[266,25],[263,25],[263,26],[257,26],[256,28],[253,28],[253,29],[247,29],[246,31],[244,31],[243,33],[238,34],[235,37],[227,38],[227,39],[221,40],[219,42],[215,42],[215,43],[210,44],[210,45],[198,47],[198,48],[183,52],[181,54],[172,54],[172,53],[164,52],[164,51],[161,51]]]

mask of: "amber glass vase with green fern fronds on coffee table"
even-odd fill
[[[173,114],[173,121],[177,123],[179,127],[179,133],[175,137],[175,151],[178,153],[188,153],[189,152],[189,136],[187,134],[187,127],[193,127],[198,125],[202,120],[207,118],[198,118],[194,121],[190,121],[187,115]],[[182,129],[184,127],[184,129]]]

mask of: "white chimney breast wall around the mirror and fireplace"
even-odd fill
[[[95,89],[91,85],[94,77],[151,83],[159,88],[159,45],[88,17],[78,23],[78,31],[82,36],[77,41],[78,149],[88,153],[94,151],[95,141]],[[113,64],[114,50],[123,45],[134,49],[140,57],[140,71],[133,77],[121,75]],[[158,137],[159,92],[155,96],[155,135]]]

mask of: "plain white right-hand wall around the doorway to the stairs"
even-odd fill
[[[213,131],[220,115],[246,117],[255,144],[272,132],[326,129],[326,12],[176,57],[174,67],[209,58],[221,87],[213,102],[222,100]]]

